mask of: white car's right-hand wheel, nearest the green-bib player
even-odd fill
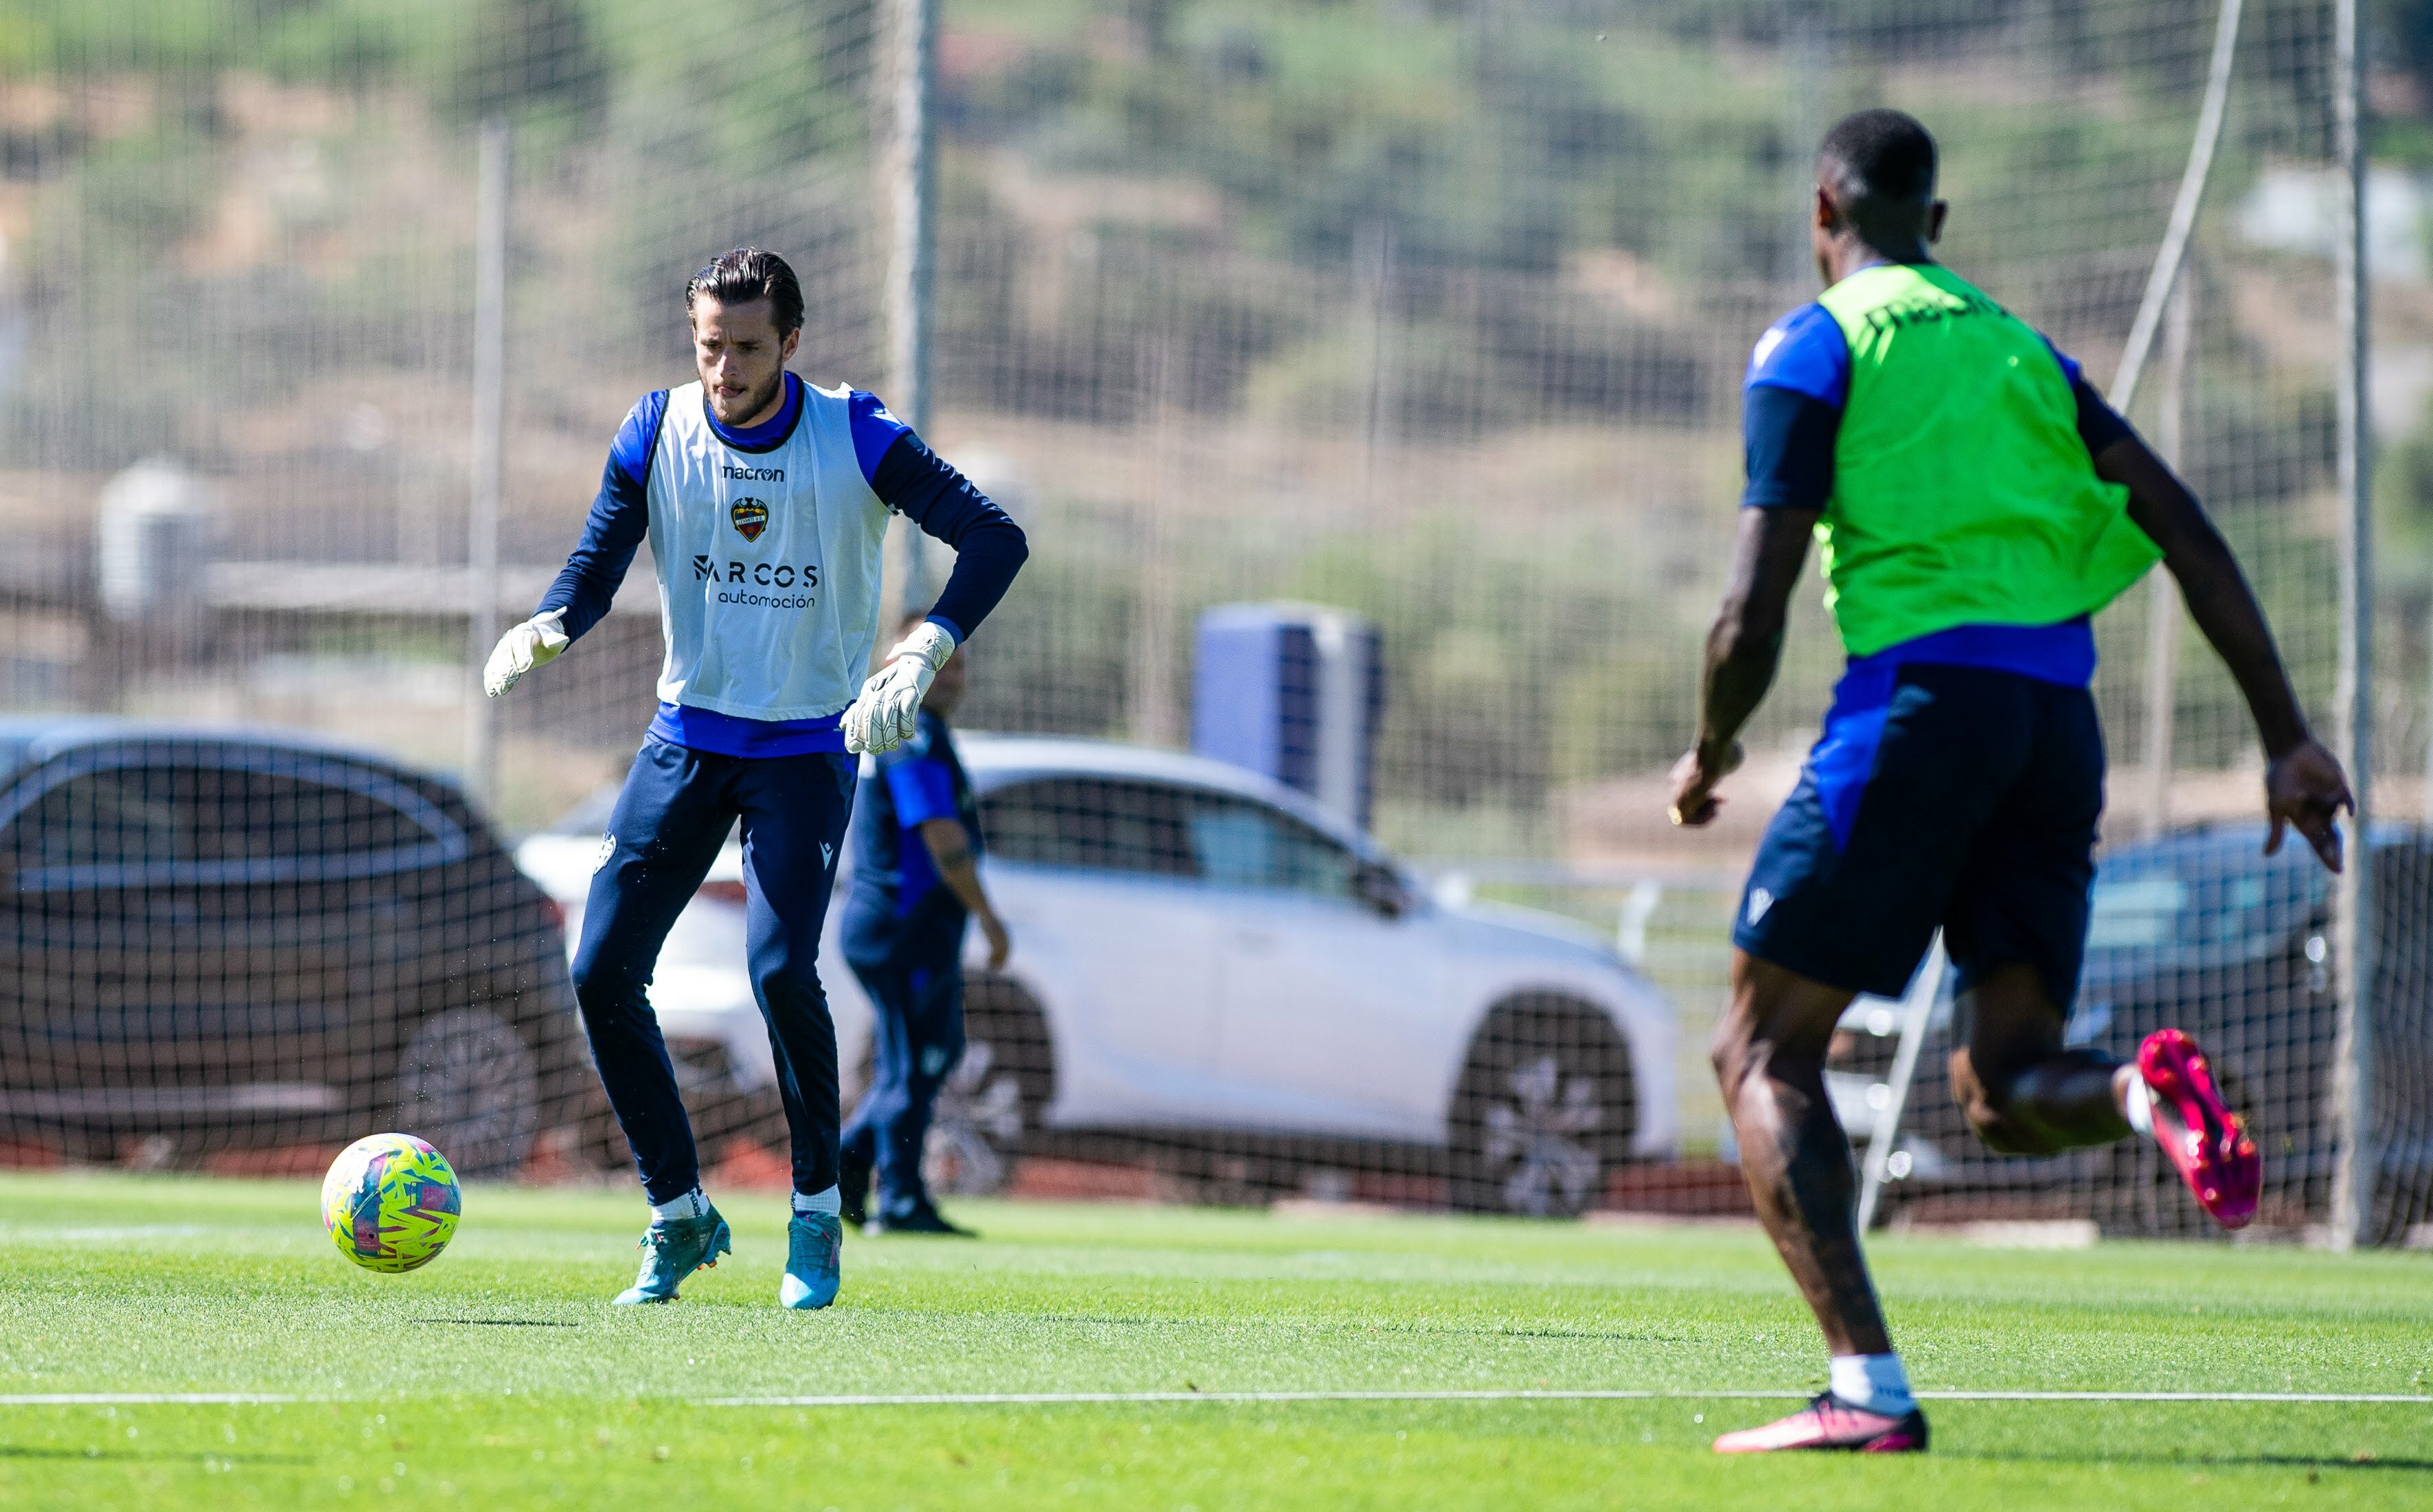
[[[1630,1045],[1594,1004],[1530,994],[1496,1006],[1453,1094],[1453,1206],[1574,1218],[1630,1157]]]

